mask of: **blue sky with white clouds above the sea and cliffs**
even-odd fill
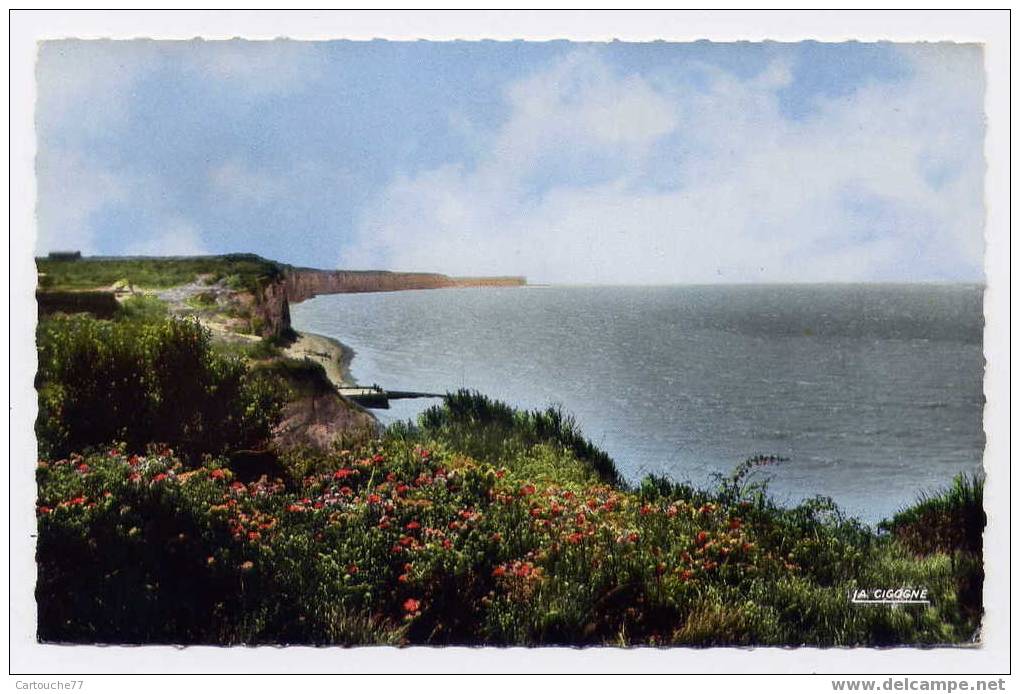
[[[48,41],[37,252],[980,282],[966,44]]]

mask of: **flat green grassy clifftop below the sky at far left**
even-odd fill
[[[136,288],[162,289],[211,276],[235,290],[254,291],[279,278],[283,265],[257,255],[235,253],[196,257],[87,257],[81,260],[37,258],[41,289],[76,290],[123,282]]]

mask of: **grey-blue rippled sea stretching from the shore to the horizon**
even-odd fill
[[[292,313],[355,349],[359,383],[559,403],[631,480],[704,485],[784,455],[777,498],[823,494],[874,522],[980,468],[981,300],[976,286],[534,287],[334,295]]]

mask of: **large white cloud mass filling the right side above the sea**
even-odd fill
[[[974,277],[980,66],[934,53],[905,50],[912,78],[820,100],[805,120],[781,112],[781,61],[680,89],[575,55],[511,87],[476,165],[396,179],[341,264],[600,283]],[[575,176],[590,168],[602,176]],[[649,185],[655,172],[679,185]]]

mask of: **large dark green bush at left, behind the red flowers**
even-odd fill
[[[124,442],[171,445],[189,461],[253,448],[270,435],[280,396],[240,358],[213,351],[198,323],[59,317],[39,326],[43,457]]]

